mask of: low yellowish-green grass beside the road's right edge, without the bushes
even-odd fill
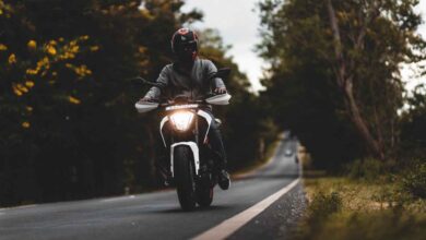
[[[297,239],[426,239],[426,201],[399,182],[312,170],[305,176],[309,206]]]

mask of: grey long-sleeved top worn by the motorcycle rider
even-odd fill
[[[153,86],[146,93],[146,98],[158,98],[165,96],[173,98],[175,96],[187,96],[191,99],[202,99],[215,87],[225,87],[223,81],[218,77],[210,81],[210,76],[217,71],[212,61],[197,58],[192,70],[185,72],[176,63],[163,68],[157,83],[161,88]]]

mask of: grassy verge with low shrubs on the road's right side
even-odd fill
[[[296,239],[426,239],[424,159],[356,160],[336,176],[313,169],[304,153],[308,208]]]

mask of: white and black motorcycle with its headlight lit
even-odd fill
[[[220,69],[209,77],[226,79],[229,69]],[[161,85],[134,79],[145,85]],[[144,113],[161,109],[165,117],[159,122],[159,134],[165,149],[169,154],[169,182],[176,187],[180,206],[184,211],[192,211],[197,204],[208,207],[213,202],[213,189],[218,181],[214,153],[209,144],[209,130],[213,121],[220,125],[218,119],[213,119],[203,107],[206,105],[228,105],[228,93],[211,95],[205,99],[190,99],[177,96],[167,101],[137,103],[138,112]],[[205,109],[205,108],[204,108]]]

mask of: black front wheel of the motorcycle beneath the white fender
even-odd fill
[[[184,211],[193,211],[197,196],[192,152],[188,146],[177,146],[174,156],[176,190],[180,207]]]

